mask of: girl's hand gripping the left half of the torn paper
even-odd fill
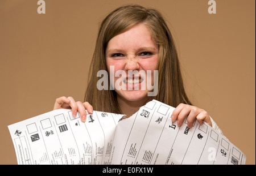
[[[72,109],[72,114],[74,117],[77,115],[77,111],[80,114],[80,118],[83,122],[86,120],[86,111],[88,113],[93,113],[93,107],[89,104],[89,102],[81,102],[75,101],[72,97],[59,97],[56,99],[55,104],[53,106],[53,110],[56,109]]]

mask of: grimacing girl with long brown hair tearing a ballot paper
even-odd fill
[[[108,88],[98,89],[100,77],[97,77],[97,72],[105,70],[109,75],[111,68],[114,73],[122,71],[129,75],[129,71],[144,71],[146,75],[126,76],[122,80],[115,77],[112,81],[109,81],[109,76]],[[154,78],[156,70],[158,77]],[[154,83],[154,79],[158,83],[157,95],[148,96],[152,90],[142,88],[142,85],[148,81]],[[121,89],[115,86],[113,89],[113,85],[120,85]],[[187,118],[190,128],[197,119],[200,124],[205,121],[222,133],[207,111],[192,106],[189,101],[174,40],[163,16],[154,9],[127,5],[110,12],[101,23],[84,102],[75,101],[72,97],[59,97],[53,109],[71,108],[75,116],[79,111],[82,121],[86,119],[85,110],[92,113],[93,109],[129,117],[152,99],[176,107],[171,119],[179,126]]]

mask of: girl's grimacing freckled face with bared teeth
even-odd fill
[[[117,98],[127,101],[148,100],[148,92],[152,89],[147,83],[151,83],[150,85],[154,83],[158,53],[158,45],[152,40],[150,30],[143,23],[135,25],[108,42],[105,53],[106,64],[110,74],[110,84],[117,92]],[[114,66],[114,69],[110,66]],[[133,72],[133,75],[129,72]],[[111,75],[112,73],[115,76]]]

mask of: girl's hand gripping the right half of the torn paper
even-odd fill
[[[181,126],[183,124],[185,118],[188,121],[188,127],[191,128],[193,123],[197,121],[200,125],[203,125],[203,121],[207,122],[210,126],[212,126],[212,122],[210,121],[210,116],[207,111],[197,108],[195,106],[179,104],[175,110],[172,112],[172,122],[177,120],[177,125]]]

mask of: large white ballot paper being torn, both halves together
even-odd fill
[[[152,100],[129,118],[93,111],[86,122],[58,109],[8,127],[18,164],[245,164],[245,154],[207,123],[177,126],[174,109]]]

